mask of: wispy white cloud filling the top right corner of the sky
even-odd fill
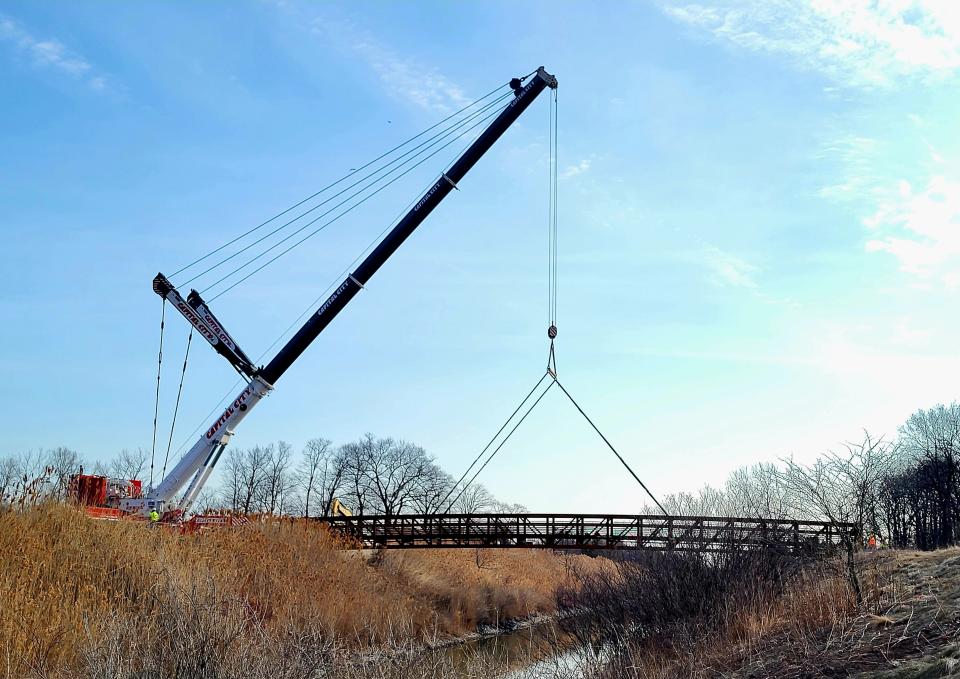
[[[943,0],[669,2],[664,11],[716,40],[785,55],[841,85],[890,87],[960,70],[960,12]]]

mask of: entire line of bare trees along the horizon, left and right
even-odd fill
[[[143,449],[123,450],[90,471],[159,482],[163,470],[149,462]],[[81,467],[80,456],[64,447],[0,458],[0,500],[62,499]],[[335,498],[358,514],[525,511],[482,485],[459,487],[422,447],[373,434],[339,446],[311,439],[299,454],[284,441],[228,449],[219,482],[196,506],[309,517],[329,514]],[[864,432],[810,464],[784,458],[744,467],[722,487],[675,493],[662,504],[677,515],[855,523],[893,547],[958,544],[960,404],[917,411],[892,438]]]

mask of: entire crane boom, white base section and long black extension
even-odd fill
[[[421,196],[420,200],[390,230],[382,241],[367,255],[357,268],[331,293],[320,308],[310,316],[300,330],[284,345],[276,356],[262,369],[253,371],[250,381],[223,413],[201,435],[193,447],[181,458],[156,488],[143,498],[127,499],[121,504],[131,512],[148,514],[152,510],[161,513],[184,513],[190,509],[203,485],[233,436],[237,425],[255,405],[269,394],[277,380],[306,351],[307,347],[323,332],[343,308],[363,289],[363,286],[397,251],[403,242],[427,218],[440,202],[457,187],[457,183],[470,171],[478,160],[493,146],[544,89],[556,89],[557,79],[541,66],[526,85],[521,80],[511,82],[514,98],[490,123],[450,168]],[[165,281],[166,279],[164,279]],[[172,290],[171,286],[171,290]],[[175,293],[176,291],[173,290]],[[163,294],[172,294],[164,289]],[[179,293],[176,293],[179,296]],[[190,316],[188,315],[188,320]],[[191,320],[191,322],[193,322]],[[213,342],[211,342],[213,343]],[[215,344],[216,348],[216,344]],[[246,358],[245,356],[243,358]],[[231,361],[233,363],[233,361]],[[244,366],[246,367],[246,366]],[[189,485],[188,485],[189,484]],[[179,501],[177,494],[186,486]]]

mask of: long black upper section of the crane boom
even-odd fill
[[[313,314],[297,334],[274,356],[273,360],[260,371],[269,384],[276,384],[280,376],[300,357],[310,343],[323,332],[338,313],[353,299],[353,296],[383,266],[390,255],[397,251],[424,219],[440,204],[470,171],[478,160],[490,150],[490,147],[506,132],[527,107],[545,88],[556,88],[557,79],[541,66],[530,81],[523,87],[515,87],[513,101],[498,115],[490,126],[481,133],[456,162],[423,194],[417,204],[393,227],[390,233],[367,255],[357,269],[333,291],[327,301]]]

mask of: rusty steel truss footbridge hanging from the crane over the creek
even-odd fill
[[[849,523],[636,514],[400,514],[318,519],[365,548],[500,547],[815,554],[856,539]],[[855,543],[856,544],[856,543]]]

